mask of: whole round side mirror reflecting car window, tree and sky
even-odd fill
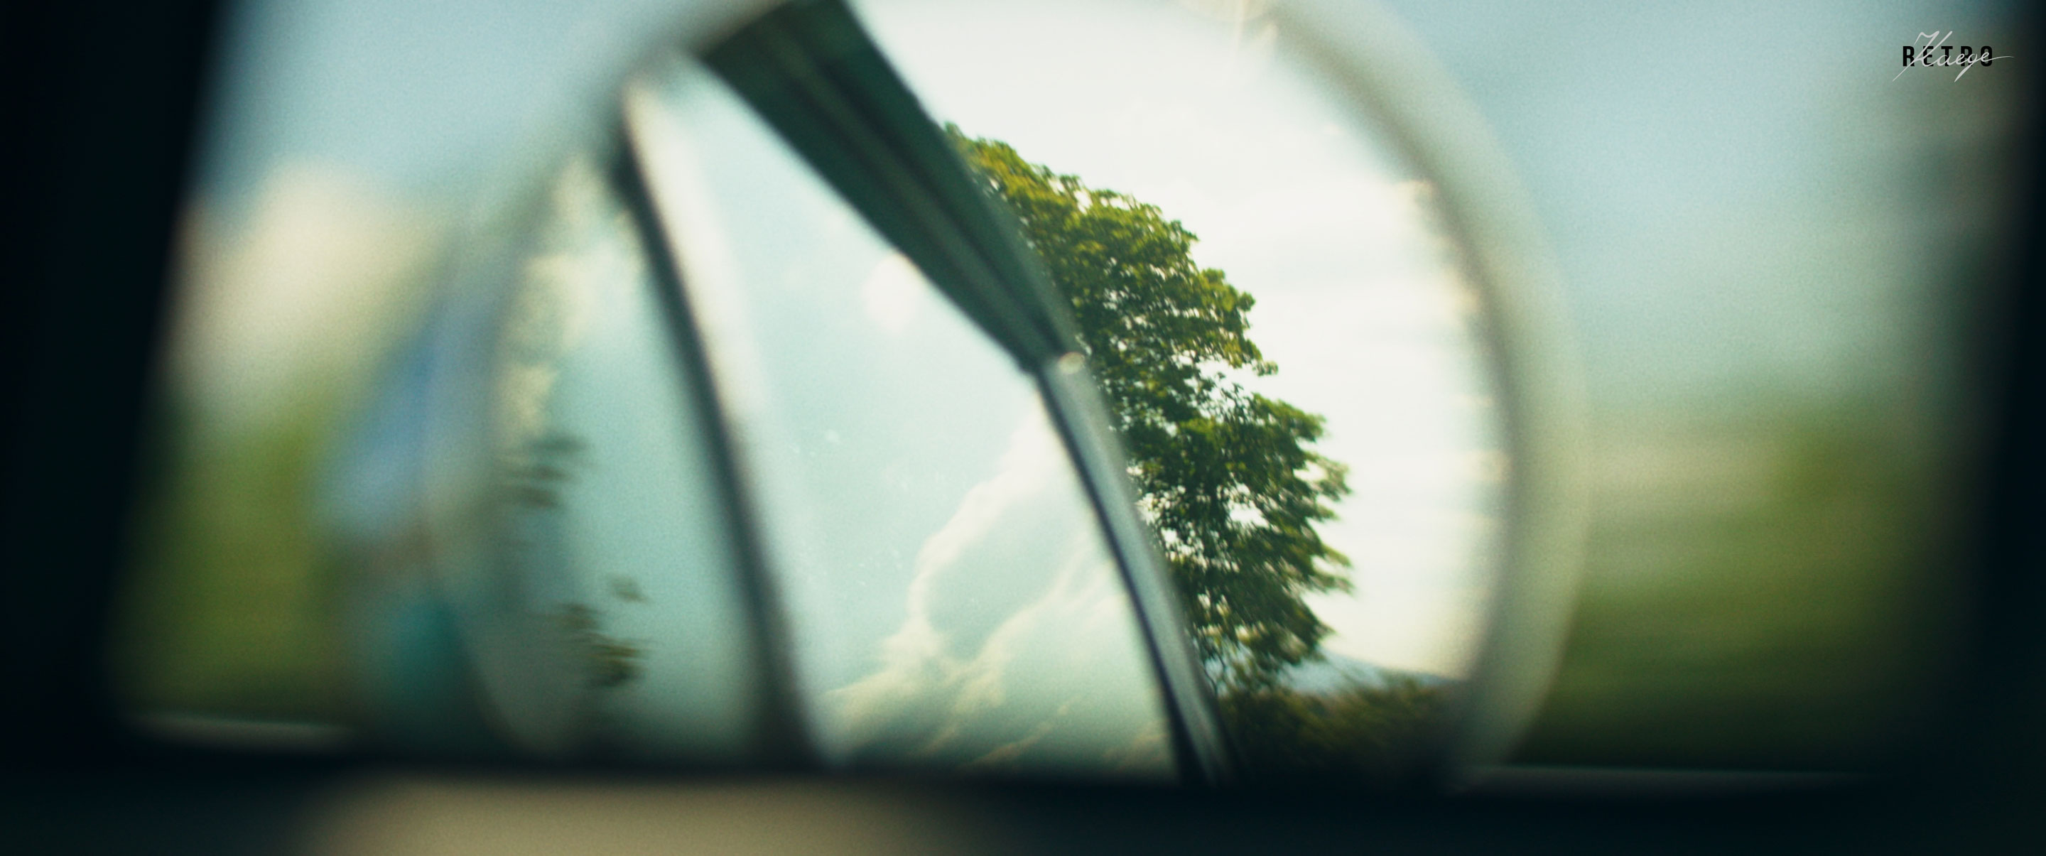
[[[364,735],[1193,782],[1506,756],[1573,592],[1575,373],[1424,57],[1314,2],[741,6],[426,276],[321,496]]]

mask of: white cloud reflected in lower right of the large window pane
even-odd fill
[[[829,694],[851,754],[1168,772],[1115,565],[1041,414],[917,553],[880,668]]]

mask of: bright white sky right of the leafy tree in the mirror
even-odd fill
[[[1432,184],[1234,4],[855,4],[941,121],[1158,205],[1256,299],[1254,389],[1328,418],[1352,496],[1322,534],[1356,590],[1314,600],[1330,653],[1463,676],[1489,606],[1500,416],[1477,295]],[[1082,18],[1084,14],[1084,18]],[[1080,25],[1084,20],[1084,25]]]

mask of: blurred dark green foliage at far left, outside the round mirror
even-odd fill
[[[309,502],[333,401],[278,405],[233,440],[180,403],[151,436],[110,627],[115,690],[143,715],[340,721],[336,561]]]

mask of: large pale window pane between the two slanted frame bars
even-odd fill
[[[1170,776],[1136,616],[1031,381],[700,68],[628,115],[827,760]]]

